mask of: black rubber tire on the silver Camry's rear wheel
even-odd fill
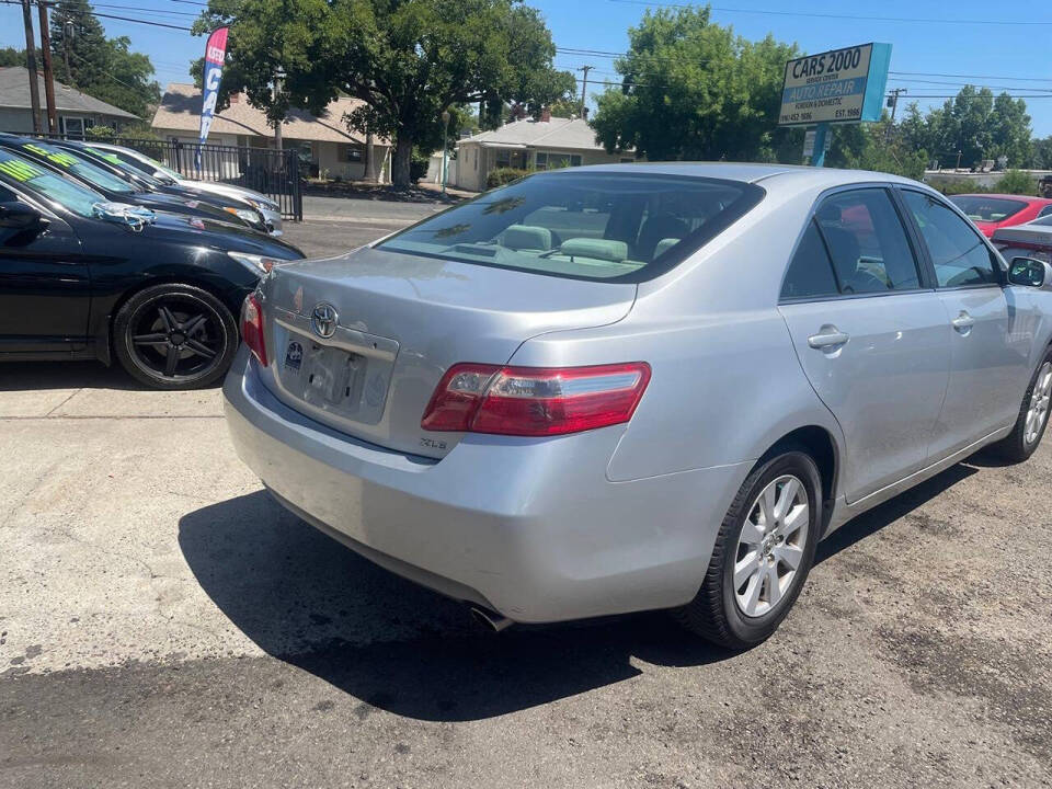
[[[739,538],[761,492],[784,476],[796,477],[808,496],[808,528],[799,546],[802,556],[780,601],[761,616],[746,616],[736,601],[733,580]],[[690,603],[676,609],[674,616],[688,630],[720,647],[744,650],[763,642],[778,629],[807,581],[821,524],[822,482],[811,456],[802,448],[789,447],[763,460],[742,483],[723,518],[701,588]]]

